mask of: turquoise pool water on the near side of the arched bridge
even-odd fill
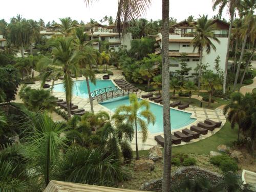
[[[141,100],[141,99],[139,99],[139,100]],[[110,99],[110,100],[101,102],[100,104],[114,112],[119,105],[123,105],[123,104],[129,105],[130,102],[129,102],[128,97],[119,97],[119,98],[114,98],[114,99]],[[154,125],[149,124],[148,130],[151,133],[163,132],[162,106],[150,102],[150,110],[156,116],[156,123]],[[190,118],[190,116],[191,116],[191,113],[187,113],[187,112],[183,112],[183,111],[179,111],[179,110],[175,110],[175,109],[170,109],[170,122],[171,122],[172,131],[179,129],[183,126],[186,126],[190,123],[193,123],[196,119]]]

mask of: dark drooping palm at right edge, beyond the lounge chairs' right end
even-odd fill
[[[254,103],[248,93],[245,96],[239,92],[230,95],[230,102],[224,107],[223,114],[231,123],[231,129],[238,124],[238,141],[246,112],[253,107]]]

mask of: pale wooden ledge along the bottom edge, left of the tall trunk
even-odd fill
[[[70,183],[64,181],[50,181],[44,192],[139,192],[138,190],[129,190],[122,188],[103,187],[97,185],[87,185],[80,183]]]

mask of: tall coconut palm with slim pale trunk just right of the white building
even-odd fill
[[[225,60],[225,70],[224,70],[224,78],[223,78],[223,94],[226,92],[226,81],[227,81],[227,67],[228,67],[228,53],[229,53],[229,43],[231,38],[231,29],[233,25],[234,13],[240,7],[241,0],[213,0],[212,9],[215,11],[217,7],[219,7],[219,15],[222,15],[222,12],[225,7],[227,7],[227,11],[230,16],[230,24],[228,30],[228,39],[227,39],[227,51],[226,51],[226,60]]]

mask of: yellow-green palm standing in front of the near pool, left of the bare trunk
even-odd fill
[[[114,118],[119,119],[120,122],[126,120],[126,123],[132,124],[135,128],[135,142],[136,142],[136,160],[139,160],[138,151],[138,136],[137,131],[140,128],[142,133],[142,142],[147,139],[147,125],[155,124],[155,116],[150,111],[150,104],[145,100],[138,100],[135,94],[129,96],[130,105],[121,105],[115,111]]]

